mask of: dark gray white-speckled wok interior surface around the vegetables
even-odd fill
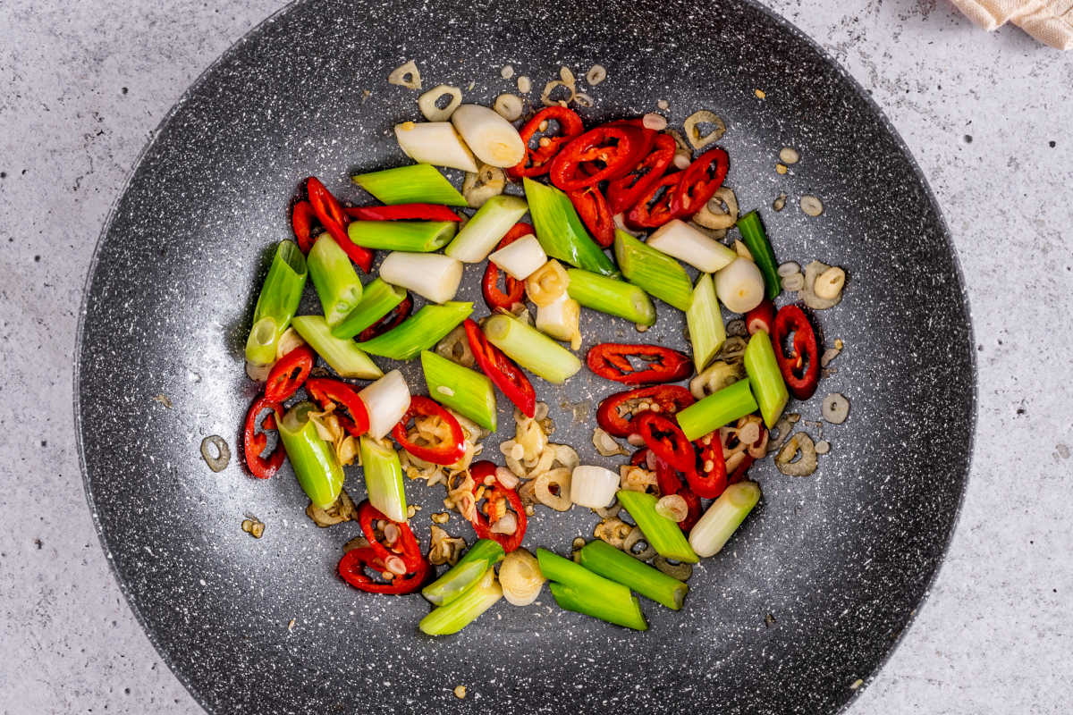
[[[417,93],[387,74],[415,59],[425,88],[462,89],[489,104],[514,92],[503,64],[532,78],[534,101],[562,64],[588,91],[587,121],[636,116],[670,102],[672,125],[715,110],[727,131],[727,184],[762,211],[780,260],[844,266],[842,303],[820,313],[823,339],[846,349],[808,405],[838,391],[850,419],[825,424],[831,453],[815,475],[752,478],[763,502],[723,553],[704,560],[681,612],[643,599],[650,629],[627,631],[539,604],[501,601],[460,635],[416,629],[416,596],[358,593],[335,565],[355,523],[317,528],[289,466],[249,478],[240,429],[255,387],[241,348],[274,244],[290,235],[299,180],[337,195],[357,170],[403,163],[391,128],[417,119]],[[470,81],[474,83],[469,90]],[[764,99],[754,90],[761,89]],[[366,93],[366,91],[368,93]],[[774,170],[795,147],[792,175]],[[780,193],[785,210],[770,209]],[[812,219],[802,194],[822,198]],[[459,299],[485,307],[469,266]],[[319,310],[315,298],[306,312]],[[680,313],[658,303],[641,336],[585,311],[597,342],[686,347]],[[382,367],[392,367],[378,360]],[[424,383],[416,362],[405,374]],[[878,109],[796,30],[744,2],[436,5],[303,2],[254,30],[180,102],[147,149],[106,227],[89,282],[76,415],[94,518],[132,607],[176,674],[209,711],[827,713],[884,660],[917,607],[954,526],[971,450],[974,364],[956,259],[930,193]],[[619,386],[579,372],[562,388],[534,381],[553,441],[583,463],[617,468],[591,443],[594,409]],[[166,396],[171,407],[157,396]],[[498,459],[513,436],[501,396]],[[575,419],[575,412],[582,419]],[[819,429],[799,428],[820,438]],[[231,465],[212,474],[204,436],[223,435]],[[501,461],[501,460],[500,460]],[[364,495],[361,473],[348,490]],[[407,483],[424,508],[443,488]],[[252,539],[239,523],[266,524]],[[540,508],[526,545],[568,553],[591,537],[588,509]],[[472,539],[453,516],[452,535]],[[289,628],[294,620],[294,625]],[[470,696],[457,701],[456,685]]]

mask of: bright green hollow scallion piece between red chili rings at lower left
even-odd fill
[[[294,475],[309,501],[322,509],[339,498],[343,473],[332,445],[321,440],[309,413],[317,406],[299,402],[291,407],[276,428]]]

